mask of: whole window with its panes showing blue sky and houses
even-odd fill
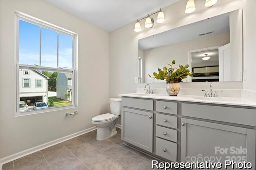
[[[76,106],[76,33],[19,12],[16,18],[17,114]],[[72,93],[69,100],[67,91]],[[22,100],[28,109],[20,112]],[[38,102],[48,107],[33,107]]]

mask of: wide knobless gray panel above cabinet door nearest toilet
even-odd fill
[[[153,111],[153,100],[122,97],[122,106]]]

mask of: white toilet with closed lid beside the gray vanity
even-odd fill
[[[116,125],[121,115],[121,101],[120,98],[110,98],[110,113],[92,118],[92,124],[97,127],[97,140],[102,141],[116,135]]]

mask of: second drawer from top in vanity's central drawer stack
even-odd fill
[[[156,124],[177,129],[178,118],[171,115],[156,113]]]

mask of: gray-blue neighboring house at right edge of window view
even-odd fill
[[[60,72],[57,77],[57,98],[72,101],[72,74]],[[70,98],[66,98],[65,93],[70,92]]]

